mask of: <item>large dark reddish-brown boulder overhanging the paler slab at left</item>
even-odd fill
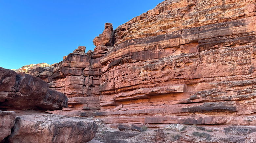
[[[0,67],[1,108],[46,111],[67,107],[67,102],[63,93],[49,89],[40,78]]]

